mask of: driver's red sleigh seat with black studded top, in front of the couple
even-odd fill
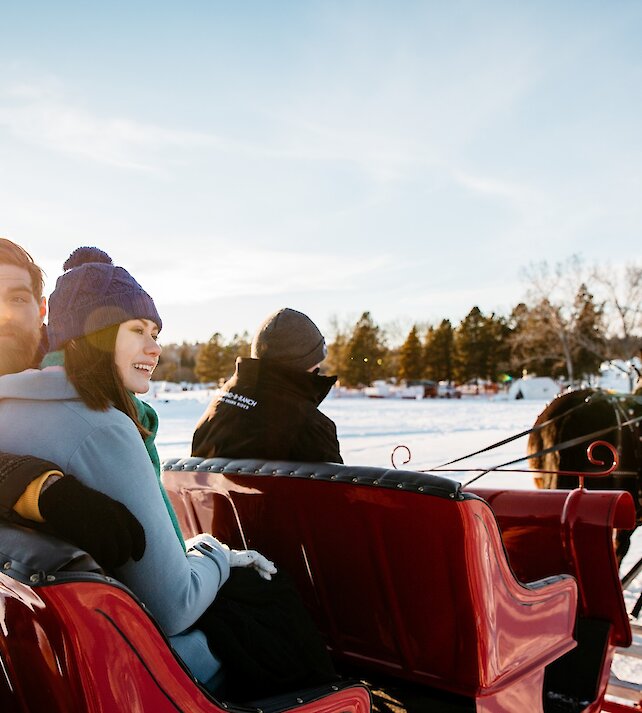
[[[421,710],[544,710],[545,670],[576,646],[576,582],[519,581],[482,498],[382,468],[189,458],[164,469],[186,535],[209,531],[285,568],[340,667],[419,687],[435,701]]]

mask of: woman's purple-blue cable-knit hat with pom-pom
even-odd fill
[[[98,248],[78,248],[63,265],[49,298],[47,334],[51,351],[66,342],[129,319],[163,326],[154,301],[122,267]]]

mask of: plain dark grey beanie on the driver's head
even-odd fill
[[[306,371],[327,354],[325,339],[303,312],[284,307],[265,319],[252,340],[253,359],[271,359]]]

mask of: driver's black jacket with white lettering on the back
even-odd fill
[[[268,359],[237,359],[196,426],[192,455],[343,463],[336,426],[317,408],[335,381]]]

